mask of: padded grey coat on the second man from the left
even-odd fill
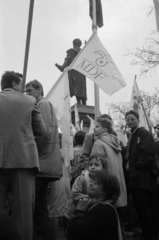
[[[37,105],[46,125],[45,136],[36,138],[40,160],[38,176],[57,180],[62,176],[62,158],[56,114],[52,104],[44,98],[41,98]]]

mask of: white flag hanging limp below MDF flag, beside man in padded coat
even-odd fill
[[[65,166],[69,166],[73,159],[73,137],[71,132],[71,105],[67,70],[54,84],[46,99],[52,103],[55,109],[59,128],[62,131],[62,152]]]

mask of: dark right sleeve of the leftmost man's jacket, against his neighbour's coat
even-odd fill
[[[42,120],[41,113],[39,112],[37,105],[35,104],[32,111],[32,128],[34,136],[43,136],[46,131],[46,126]]]

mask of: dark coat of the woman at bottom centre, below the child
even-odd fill
[[[76,210],[69,221],[68,240],[118,240],[115,209],[99,203],[86,213]]]

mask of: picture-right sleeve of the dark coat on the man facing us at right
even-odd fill
[[[152,134],[144,129],[137,138],[137,162],[136,169],[145,169],[152,165],[155,159],[155,141]]]

